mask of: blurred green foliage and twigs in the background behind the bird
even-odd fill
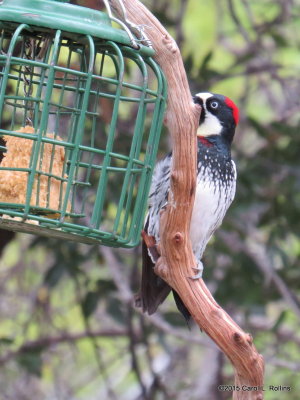
[[[145,4],[178,41],[192,93],[223,93],[240,107],[236,199],[206,250],[204,279],[264,355],[265,398],[296,400],[300,4]],[[130,127],[124,116],[120,148]],[[159,156],[169,149],[165,132]],[[153,318],[132,307],[140,263],[140,249],[26,235],[10,241],[0,260],[1,399],[230,398],[217,390],[234,382],[229,362],[197,327],[186,327],[171,298]]]

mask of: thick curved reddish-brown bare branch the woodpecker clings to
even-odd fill
[[[117,0],[110,0],[122,19]],[[193,281],[196,265],[189,238],[196,184],[196,135],[200,109],[192,96],[180,51],[168,32],[138,0],[123,0],[130,21],[145,25],[168,82],[166,124],[173,140],[168,205],[160,219],[160,254],[155,272],[174,288],[196,323],[217,343],[235,368],[235,385],[262,386],[264,364],[252,337],[216,303],[202,279]],[[201,221],[199,221],[201,223]],[[234,399],[262,399],[262,391],[235,391]]]

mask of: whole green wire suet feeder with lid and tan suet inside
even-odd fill
[[[153,54],[105,13],[0,1],[0,228],[138,243],[166,99]]]

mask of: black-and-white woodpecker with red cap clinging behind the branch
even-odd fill
[[[226,211],[232,203],[236,188],[236,168],[231,159],[230,146],[239,119],[239,110],[232,100],[220,94],[198,93],[193,97],[202,107],[197,130],[197,184],[195,202],[190,225],[190,238],[197,260],[195,276],[202,277],[201,262],[205,247],[221,225]],[[144,231],[159,242],[160,211],[167,204],[170,189],[172,153],[157,163],[150,189],[149,209]],[[153,314],[172,290],[158,277],[153,267],[153,250],[142,244],[143,269],[141,290],[136,305],[144,312]],[[173,290],[177,308],[188,321],[190,313]]]

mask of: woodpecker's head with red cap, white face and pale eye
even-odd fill
[[[213,93],[198,93],[193,99],[202,107],[197,136],[207,140],[221,136],[230,145],[239,121],[239,109],[234,102]]]

